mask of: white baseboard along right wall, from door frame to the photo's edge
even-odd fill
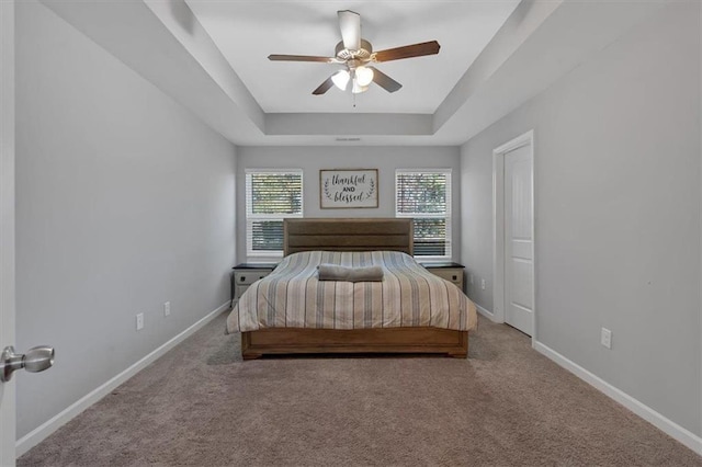
[[[680,426],[672,420],[667,419],[660,413],[656,412],[650,407],[642,403],[637,399],[634,399],[626,392],[621,389],[615,388],[611,384],[607,383],[604,379],[599,376],[593,375],[588,372],[580,365],[571,362],[565,356],[561,355],[558,352],[553,349],[542,344],[541,342],[535,342],[533,348],[541,354],[547,356],[568,372],[573,373],[584,381],[588,383],[600,392],[604,394],[609,398],[614,401],[621,403],[632,412],[636,413],[642,419],[646,420],[648,423],[656,426],[658,430],[668,434],[670,437],[679,441],[680,443],[688,446],[690,449],[695,453],[702,455],[702,437],[695,435],[691,431]]]

